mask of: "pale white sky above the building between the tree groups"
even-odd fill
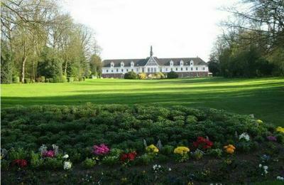
[[[103,59],[200,57],[222,33],[228,0],[65,0],[77,23],[94,30]]]

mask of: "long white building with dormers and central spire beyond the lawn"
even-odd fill
[[[179,77],[208,76],[208,66],[201,58],[157,58],[153,56],[152,46],[150,57],[141,59],[103,60],[103,78],[124,78],[124,74],[135,73],[169,73],[175,71]]]

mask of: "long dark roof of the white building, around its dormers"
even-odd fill
[[[207,65],[201,58],[157,58],[153,57],[158,65],[170,65],[170,61],[173,61],[173,65],[180,65],[180,61],[183,61],[183,65],[190,65],[190,61],[193,61],[193,65]],[[131,66],[131,62],[133,61],[134,66],[144,66],[148,62],[148,58],[140,58],[140,59],[113,59],[113,60],[103,60],[103,67],[110,67],[111,62],[114,63],[114,67],[120,67],[120,63],[124,62],[124,66]]]

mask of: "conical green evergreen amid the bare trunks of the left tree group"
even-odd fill
[[[52,49],[45,48],[38,62],[38,75],[53,78],[49,82],[62,83],[62,61],[53,53]]]

